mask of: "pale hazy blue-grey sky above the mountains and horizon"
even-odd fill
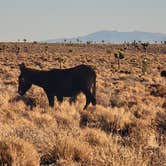
[[[0,0],[0,41],[99,30],[166,33],[166,0]]]

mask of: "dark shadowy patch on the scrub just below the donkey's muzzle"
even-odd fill
[[[9,100],[9,103],[14,103],[14,102],[19,102],[19,101],[23,101],[25,105],[27,105],[28,107],[30,107],[30,109],[32,110],[34,107],[36,107],[36,101],[34,98],[31,97],[27,97],[27,96],[15,96],[14,98]]]

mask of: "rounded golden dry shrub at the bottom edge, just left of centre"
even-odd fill
[[[92,153],[93,150],[87,143],[70,136],[59,136],[49,156],[52,162],[67,160],[86,166],[91,163]]]

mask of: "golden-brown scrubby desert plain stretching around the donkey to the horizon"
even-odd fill
[[[166,165],[165,57],[166,44],[0,43],[0,166]],[[72,104],[55,96],[49,107],[35,85],[20,96],[21,63],[91,65],[96,106],[83,110],[81,93]]]

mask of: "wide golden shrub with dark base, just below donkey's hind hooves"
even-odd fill
[[[90,108],[89,108],[90,110]],[[80,126],[99,128],[105,132],[125,136],[132,126],[131,115],[123,109],[109,110],[102,106],[97,106],[92,112],[82,112]]]

